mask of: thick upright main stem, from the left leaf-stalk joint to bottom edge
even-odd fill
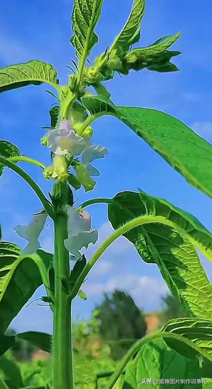
[[[53,381],[54,389],[73,389],[73,365],[71,342],[71,303],[62,286],[61,279],[70,274],[69,253],[64,247],[68,237],[67,215],[58,212],[55,226],[55,293],[54,293],[54,337],[53,337]]]

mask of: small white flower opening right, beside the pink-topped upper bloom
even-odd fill
[[[87,168],[91,177],[98,177],[100,175],[99,170],[90,165],[95,159],[104,158],[108,154],[108,150],[103,146],[92,146],[89,138],[85,140],[85,148],[82,152],[82,163]]]

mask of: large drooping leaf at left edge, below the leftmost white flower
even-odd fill
[[[0,242],[0,333],[4,333],[10,322],[36,289],[43,284],[33,256],[20,256],[21,249],[9,242]],[[52,254],[38,250],[46,268]]]

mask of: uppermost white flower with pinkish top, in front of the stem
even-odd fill
[[[71,129],[68,120],[62,120],[58,130],[50,130],[47,134],[47,146],[56,155],[64,155],[67,158],[80,155],[85,147],[84,138]]]

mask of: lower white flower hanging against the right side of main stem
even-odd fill
[[[88,212],[82,210],[80,216],[80,213],[70,205],[67,205],[66,209],[68,212],[68,238],[64,240],[64,246],[75,259],[82,258],[80,250],[82,247],[87,249],[89,243],[96,243],[98,231],[90,229],[91,218]]]

